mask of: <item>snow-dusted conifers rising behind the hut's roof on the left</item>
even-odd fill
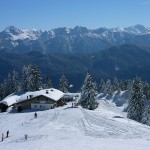
[[[14,69],[12,73],[9,73],[7,78],[0,84],[0,100],[15,92],[37,91],[52,87],[53,85],[50,76],[47,76],[43,80],[42,73],[38,66],[23,66],[21,78],[19,78],[18,72]],[[62,75],[59,81],[59,89],[63,92],[67,92],[68,88],[69,82],[65,75]]]

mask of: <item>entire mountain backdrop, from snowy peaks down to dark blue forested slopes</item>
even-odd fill
[[[20,76],[24,65],[40,67],[43,78],[50,75],[54,87],[65,74],[80,89],[86,72],[100,83],[107,80],[142,77],[150,82],[150,28],[85,27],[49,31],[21,30],[13,26],[0,32],[0,81],[15,68]]]

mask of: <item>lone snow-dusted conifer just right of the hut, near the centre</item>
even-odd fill
[[[98,102],[96,101],[96,83],[93,82],[92,76],[87,73],[82,91],[81,99],[79,104],[85,109],[94,110],[98,107]]]

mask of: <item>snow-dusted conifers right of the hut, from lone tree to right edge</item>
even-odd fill
[[[127,117],[143,124],[150,125],[150,85],[142,81],[139,77],[133,80],[114,81],[102,79],[100,83],[100,92],[97,91],[96,82],[90,73],[87,73],[84,84],[81,89],[81,99],[79,101],[83,108],[94,110],[98,107],[96,96],[98,93],[104,93],[112,96],[115,91],[127,91],[129,93]],[[147,103],[146,103],[147,102]]]

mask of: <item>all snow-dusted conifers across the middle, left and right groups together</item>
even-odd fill
[[[53,86],[50,77],[47,76],[44,83],[42,82],[42,74],[38,66],[23,66],[21,79],[19,79],[18,72],[14,69],[1,83],[0,99],[2,100],[14,92],[37,91],[51,87]],[[59,80],[59,90],[66,93],[69,87],[70,84],[63,74]],[[115,91],[127,91],[129,93],[127,107],[127,117],[129,119],[150,125],[150,105],[146,104],[146,100],[150,100],[150,85],[139,77],[126,81],[117,78],[114,78],[113,81],[101,79],[100,85],[97,86],[92,75],[88,72],[81,88],[81,98],[78,103],[85,109],[94,110],[99,104],[96,98],[99,93],[112,96]]]

